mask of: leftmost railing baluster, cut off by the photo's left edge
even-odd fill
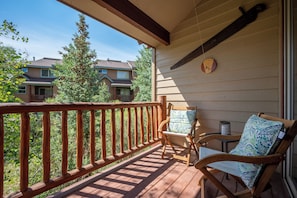
[[[3,115],[0,114],[0,197],[4,193],[4,120]]]

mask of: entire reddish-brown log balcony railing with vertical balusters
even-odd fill
[[[119,159],[130,156],[160,140],[157,127],[166,116],[166,98],[148,103],[2,103],[0,104],[0,196],[4,195],[5,122],[9,114],[20,117],[19,190],[11,197],[32,197],[80,178]],[[59,113],[61,122],[61,172],[51,175],[51,131],[56,123],[52,116]],[[76,122],[75,166],[69,170],[69,122],[74,112]],[[30,117],[41,114],[42,119],[42,179],[29,186]],[[88,117],[86,124],[85,118]],[[72,120],[73,121],[73,120]],[[89,131],[84,131],[88,125]],[[98,127],[100,125],[100,127]],[[108,127],[107,127],[108,125]],[[56,126],[55,126],[56,127]],[[97,127],[97,128],[96,128]],[[87,135],[86,135],[87,134]],[[98,138],[99,134],[99,138]],[[88,137],[88,144],[84,141]],[[108,141],[109,140],[109,141]],[[87,148],[86,148],[87,147]],[[86,161],[86,153],[88,158]],[[100,157],[98,152],[100,151]]]

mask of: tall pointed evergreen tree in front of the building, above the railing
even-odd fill
[[[85,17],[79,15],[76,23],[78,32],[74,34],[73,43],[64,47],[62,64],[57,64],[53,72],[57,79],[54,81],[58,88],[55,101],[58,102],[106,102],[105,84],[99,81],[95,70],[96,52],[90,49],[88,25]],[[102,101],[98,101],[98,99]]]

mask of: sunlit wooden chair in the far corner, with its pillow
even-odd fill
[[[160,123],[158,132],[162,135],[163,151],[162,158],[166,153],[166,146],[170,145],[174,151],[173,158],[190,164],[191,151],[194,150],[198,157],[195,145],[195,135],[199,126],[197,118],[197,107],[168,105],[167,118]],[[163,128],[166,130],[163,130]],[[178,153],[176,148],[184,148],[186,154]]]

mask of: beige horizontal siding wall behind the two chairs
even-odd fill
[[[216,131],[220,120],[241,132],[247,118],[259,111],[278,115],[281,110],[282,25],[281,3],[267,9],[246,26],[205,54],[175,70],[170,67],[263,1],[202,0],[171,32],[171,44],[156,48],[156,96],[166,95],[178,105],[197,105],[201,130]],[[203,59],[215,58],[210,74],[201,71]]]

